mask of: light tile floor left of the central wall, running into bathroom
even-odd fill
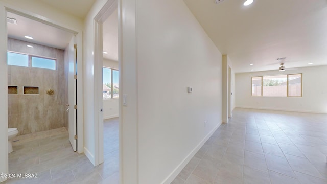
[[[65,128],[17,136],[9,154],[9,173],[37,173],[4,183],[119,183],[118,118],[104,121],[105,162],[94,167],[74,152]]]

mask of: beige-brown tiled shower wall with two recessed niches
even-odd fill
[[[66,127],[68,68],[64,50],[12,38],[8,38],[8,50],[57,58],[57,70],[8,65],[8,85],[18,86],[18,95],[8,95],[8,127],[17,128],[18,135]],[[39,94],[24,95],[22,86],[38,86]],[[48,89],[55,93],[46,94]]]

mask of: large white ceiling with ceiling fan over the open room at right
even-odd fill
[[[326,0],[184,2],[236,73],[327,64]]]

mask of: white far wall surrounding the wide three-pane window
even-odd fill
[[[327,65],[301,67],[285,72],[236,74],[236,106],[241,108],[327,113]],[[251,96],[251,77],[302,73],[302,97]]]

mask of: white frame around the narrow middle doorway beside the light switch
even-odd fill
[[[99,118],[103,117],[100,112],[102,106],[99,104],[102,99],[102,81],[98,75],[102,74],[102,48],[99,40],[99,21],[101,17],[105,18],[110,14],[110,7],[117,3],[118,7],[118,60],[119,60],[119,174],[120,183],[138,183],[138,101],[137,101],[137,49],[136,49],[136,0],[107,0],[106,4],[95,17],[94,24],[94,43],[95,48],[95,80],[98,86],[95,86],[95,158],[96,162],[101,162],[103,155],[103,122]],[[102,29],[101,29],[102,30]],[[101,66],[101,68],[100,68]],[[99,71],[101,70],[101,71]],[[102,75],[101,75],[102,77]],[[123,96],[125,96],[125,105],[123,105]],[[128,97],[127,97],[128,96]],[[127,105],[128,101],[128,105]],[[99,103],[100,102],[100,103]],[[100,122],[100,123],[99,123]],[[101,123],[102,122],[102,123]],[[102,147],[102,148],[101,148]]]

